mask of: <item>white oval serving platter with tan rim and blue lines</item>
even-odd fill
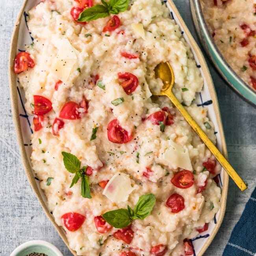
[[[20,154],[22,157],[25,173],[28,177],[28,181],[30,182],[33,191],[35,192],[39,202],[41,203],[41,206],[45,211],[45,214],[50,219],[50,221],[58,231],[59,235],[61,236],[67,247],[69,247],[67,238],[65,236],[65,231],[63,228],[59,227],[55,223],[54,217],[48,209],[47,200],[44,195],[44,192],[40,187],[40,181],[37,179],[32,169],[32,165],[30,162],[30,156],[32,153],[32,144],[30,141],[32,129],[30,128],[30,124],[32,121],[32,116],[29,116],[26,113],[26,109],[24,108],[24,91],[20,88],[17,76],[13,71],[13,63],[17,52],[24,50],[24,46],[31,44],[33,41],[33,38],[31,37],[28,31],[28,27],[26,25],[26,19],[28,16],[28,11],[39,2],[41,2],[41,0],[24,1],[13,31],[9,56],[9,83],[11,95],[11,108],[17,134],[17,140],[19,142]],[[202,53],[200,52],[200,49],[198,48],[197,44],[195,43],[195,40],[190,34],[186,24],[182,20],[182,17],[178,13],[178,10],[176,9],[176,6],[174,5],[173,1],[164,0],[164,2],[165,4],[167,4],[167,7],[170,10],[171,18],[174,19],[175,22],[180,26],[183,36],[194,54],[197,67],[198,69],[200,69],[202,77],[204,79],[204,88],[201,93],[197,94],[195,102],[197,103],[198,106],[208,108],[208,116],[215,126],[217,147],[224,154],[224,156],[227,157],[226,142],[224,139],[221,115],[219,112],[219,105],[215,89],[213,86],[213,82],[211,80],[210,72],[206,65],[206,61],[202,56]],[[191,242],[193,244],[194,256],[203,255],[203,253],[206,251],[211,241],[213,240],[214,236],[216,235],[217,231],[219,230],[221,222],[223,221],[224,212],[226,208],[226,197],[228,192],[228,174],[224,171],[224,169],[222,169],[221,173],[219,174],[219,186],[221,187],[222,190],[221,207],[219,211],[216,213],[214,221],[212,221],[209,224],[208,230],[203,233],[200,233],[200,235],[191,239]],[[73,255],[77,255],[74,250],[70,249],[70,251]]]

